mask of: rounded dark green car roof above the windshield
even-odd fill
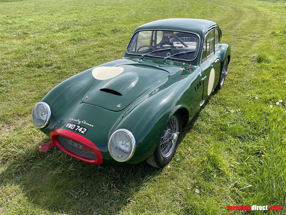
[[[212,26],[217,26],[213,21],[205,19],[174,18],[161,19],[146,23],[136,28],[134,32],[141,30],[174,30],[194,32],[202,38],[205,32]]]

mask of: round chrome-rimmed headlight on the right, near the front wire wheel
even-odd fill
[[[135,152],[135,139],[133,134],[126,129],[113,132],[108,142],[109,153],[114,160],[128,161]]]

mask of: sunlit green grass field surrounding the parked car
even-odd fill
[[[218,23],[232,56],[169,167],[40,153],[49,139],[31,123],[33,105],[122,57],[137,26],[174,17]],[[262,214],[226,210],[253,204],[286,213],[285,41],[285,1],[0,0],[0,214]]]

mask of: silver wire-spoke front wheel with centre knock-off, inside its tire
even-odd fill
[[[168,157],[176,146],[177,133],[179,132],[179,121],[176,116],[172,116],[166,128],[164,129],[160,140],[160,151],[162,157]]]

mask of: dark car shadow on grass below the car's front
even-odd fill
[[[44,153],[35,147],[11,161],[0,174],[0,184],[7,190],[18,185],[19,195],[42,211],[116,214],[161,171],[146,162],[128,167],[92,165],[57,147]]]

